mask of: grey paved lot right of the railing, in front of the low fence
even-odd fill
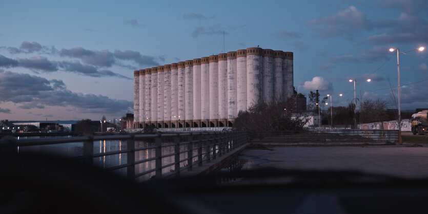
[[[243,168],[360,170],[404,178],[428,178],[428,148],[404,146],[268,147],[247,149]]]

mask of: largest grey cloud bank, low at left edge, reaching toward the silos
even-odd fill
[[[72,106],[79,112],[112,113],[127,111],[133,104],[107,96],[73,93],[60,80],[48,80],[10,71],[0,73],[0,100],[21,104],[21,109],[43,109],[45,106]],[[6,111],[6,110],[5,110]]]

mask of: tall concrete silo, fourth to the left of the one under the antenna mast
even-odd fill
[[[193,127],[193,60],[185,65],[185,120],[183,127]]]

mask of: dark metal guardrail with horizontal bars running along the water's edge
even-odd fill
[[[94,141],[100,140],[126,140],[126,149],[113,152],[100,152],[94,154]],[[139,147],[141,143],[136,141],[149,142],[146,146]],[[83,136],[71,138],[40,138],[40,139],[21,139],[9,137],[0,140],[0,149],[5,152],[18,153],[19,148],[35,145],[52,145],[72,142],[83,142],[83,155],[72,157],[75,160],[81,160],[87,164],[93,164],[94,158],[127,154],[125,164],[105,168],[112,171],[126,168],[126,177],[129,180],[154,174],[151,178],[161,179],[173,175],[180,175],[182,170],[192,170],[194,166],[201,166],[208,163],[216,157],[222,156],[233,149],[248,142],[246,132],[206,132],[206,133],[171,133],[171,134],[149,134],[149,135],[114,135],[114,136]],[[162,154],[162,148],[173,147],[173,153]],[[155,156],[144,159],[136,158],[135,154],[141,151],[154,150]],[[181,157],[180,157],[181,156]],[[162,165],[162,159],[174,157],[173,161]],[[184,157],[184,158],[182,158]],[[155,167],[136,172],[136,166],[154,161]],[[165,161],[164,161],[165,162]],[[162,169],[170,169],[170,172],[162,172]]]

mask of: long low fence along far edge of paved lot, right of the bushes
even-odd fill
[[[281,132],[251,132],[251,142],[271,143],[397,143],[398,130],[302,130]]]

